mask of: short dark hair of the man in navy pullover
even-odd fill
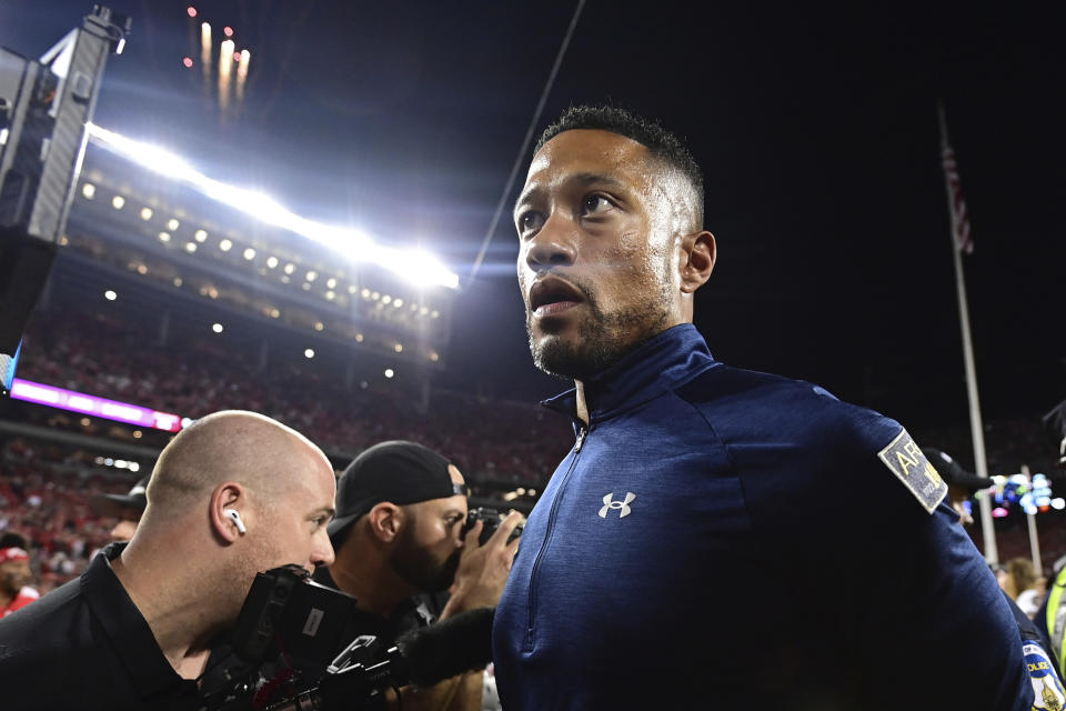
[[[540,151],[544,143],[562,133],[575,129],[591,129],[610,131],[636,141],[647,149],[648,153],[676,168],[688,179],[696,191],[696,209],[700,214],[697,221],[703,222],[703,171],[696,159],[685,148],[681,140],[658,124],[657,121],[646,119],[621,107],[604,106],[572,106],[554,123],[544,129],[533,152]]]

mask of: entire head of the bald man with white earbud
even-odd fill
[[[254,412],[209,414],[160,454],[118,563],[147,577],[125,572],[123,584],[163,610],[210,584],[212,624],[229,625],[255,573],[333,562],[335,494],[333,467],[299,432]]]

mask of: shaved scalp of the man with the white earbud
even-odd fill
[[[215,487],[234,481],[270,505],[300,471],[329,467],[321,450],[284,424],[255,412],[225,410],[181,431],[155,462],[145,519],[180,515]]]

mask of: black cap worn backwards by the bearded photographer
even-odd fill
[[[336,539],[359,517],[383,501],[398,505],[466,495],[452,482],[449,462],[428,447],[406,440],[374,444],[356,457],[336,482],[336,515],[326,527]]]

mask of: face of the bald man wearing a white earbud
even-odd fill
[[[324,458],[309,452],[299,478],[284,495],[262,502],[265,527],[249,527],[247,535],[255,535],[253,553],[255,572],[295,563],[309,572],[333,562],[333,545],[325,525],[333,518],[336,478]]]

